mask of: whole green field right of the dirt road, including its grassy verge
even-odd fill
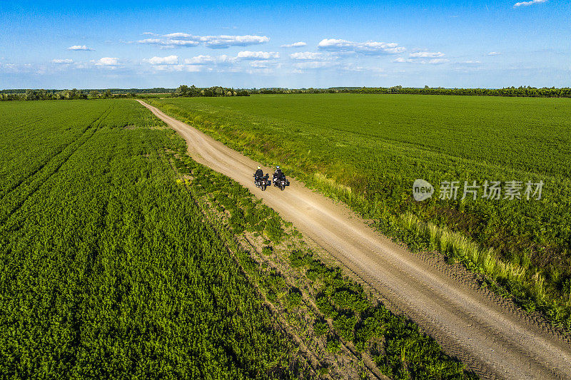
[[[413,249],[485,272],[571,327],[571,100],[415,95],[166,98],[154,106],[348,203]],[[413,200],[413,181],[459,181]],[[464,181],[522,183],[521,200],[460,200]],[[525,199],[525,185],[544,183]],[[535,187],[533,188],[535,190]],[[489,250],[489,249],[492,250]]]

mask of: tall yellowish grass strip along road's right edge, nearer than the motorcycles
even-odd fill
[[[545,276],[530,265],[527,252],[519,262],[510,262],[493,247],[479,245],[462,232],[425,222],[411,212],[394,215],[383,200],[371,202],[321,173],[314,173],[306,183],[328,197],[347,203],[353,210],[375,215],[380,226],[384,226],[381,228],[384,233],[397,237],[412,250],[440,252],[448,262],[462,262],[468,269],[481,273],[485,277],[484,284],[491,284],[495,291],[511,295],[525,309],[541,309],[555,324],[571,331],[571,281],[569,289],[563,289],[569,296],[564,302],[557,302],[546,290]],[[368,212],[363,212],[367,209]]]

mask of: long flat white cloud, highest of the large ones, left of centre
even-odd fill
[[[208,48],[228,48],[230,46],[259,45],[270,41],[266,36],[194,36],[188,33],[170,33],[161,38],[145,38],[137,41],[151,45],[159,45],[164,48],[176,48],[185,46],[198,46],[203,43]]]

